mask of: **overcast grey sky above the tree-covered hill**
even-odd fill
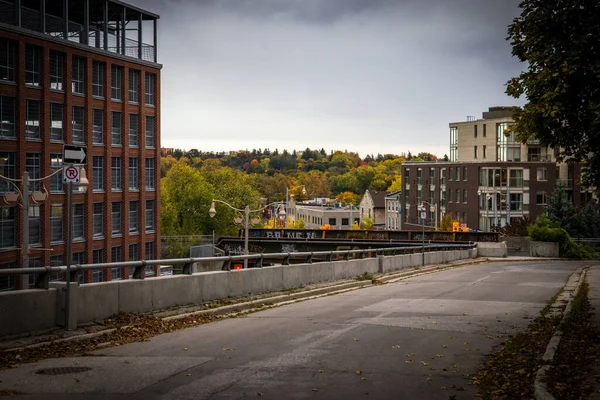
[[[160,15],[163,147],[441,157],[449,122],[522,104],[519,0],[128,2]]]

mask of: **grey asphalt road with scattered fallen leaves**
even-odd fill
[[[475,373],[577,262],[496,262],[0,372],[20,399],[471,399]],[[86,372],[36,374],[43,368]],[[455,397],[452,397],[455,396]]]

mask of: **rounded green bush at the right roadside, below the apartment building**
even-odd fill
[[[557,242],[561,257],[567,258],[597,258],[588,246],[582,246],[573,241],[569,233],[560,227],[560,222],[552,222],[545,215],[541,215],[535,224],[527,228],[531,240],[538,242]]]

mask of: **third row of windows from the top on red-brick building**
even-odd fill
[[[50,172],[51,174],[58,171],[63,167],[62,153],[50,153]],[[15,152],[3,151],[0,152],[0,158],[5,160],[4,162],[4,176],[7,178],[16,178],[16,160]],[[122,165],[123,157],[111,157],[110,160],[110,176],[111,176],[111,189],[112,191],[123,190],[123,178]],[[146,190],[156,189],[156,158],[148,157],[144,159],[145,168],[145,182],[144,188]],[[139,158],[129,157],[128,165],[129,179],[127,187],[130,190],[139,190]],[[29,173],[31,179],[39,179],[41,177],[41,154],[40,153],[26,153],[25,169]],[[92,156],[92,177],[91,184],[92,189],[95,192],[102,192],[104,188],[104,177],[105,177],[105,157],[104,156]],[[49,179],[50,193],[62,193],[64,189],[63,177],[60,172],[52,175]],[[5,179],[0,180],[0,193],[11,192],[14,189],[12,185]],[[29,190],[41,190],[41,182],[30,182]]]

